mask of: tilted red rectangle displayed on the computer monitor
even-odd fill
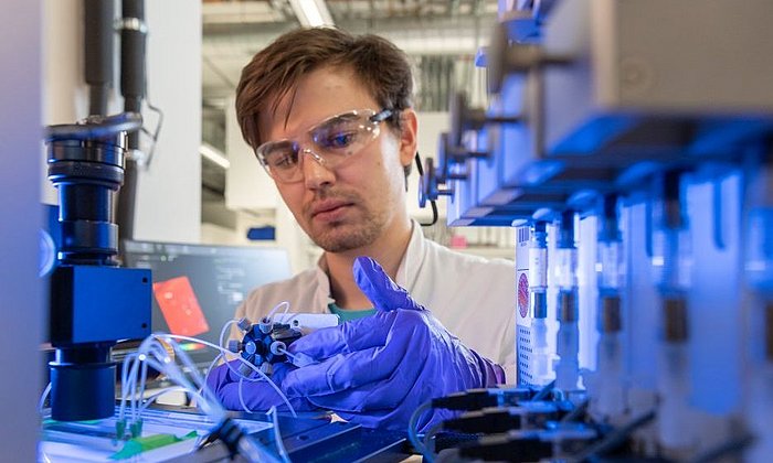
[[[153,295],[171,334],[195,336],[210,331],[188,277],[153,283]]]

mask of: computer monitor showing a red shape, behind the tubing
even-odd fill
[[[284,249],[137,240],[123,245],[124,266],[152,271],[152,331],[213,344],[251,290],[290,277]],[[181,346],[199,366],[218,355],[203,344]]]

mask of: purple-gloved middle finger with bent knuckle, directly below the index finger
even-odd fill
[[[304,397],[333,394],[384,380],[404,362],[422,364],[431,335],[421,313],[402,310],[392,313],[395,323],[384,345],[338,354],[289,373],[284,381],[288,394]],[[416,348],[412,351],[412,347]]]

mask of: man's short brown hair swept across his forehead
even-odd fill
[[[236,118],[244,140],[261,144],[258,114],[276,110],[306,74],[324,66],[349,66],[381,108],[395,109],[390,123],[400,129],[399,111],[412,106],[413,77],[404,52],[378,35],[352,35],[332,28],[297,29],[263,49],[242,69],[236,87]]]

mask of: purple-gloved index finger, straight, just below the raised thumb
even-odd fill
[[[317,362],[370,347],[384,345],[394,315],[380,313],[352,320],[338,326],[317,330],[287,347],[290,354],[303,353]]]

